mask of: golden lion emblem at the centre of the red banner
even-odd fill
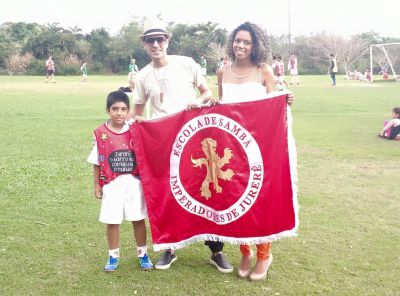
[[[207,168],[207,176],[201,184],[200,193],[201,196],[209,199],[211,197],[210,183],[213,183],[217,193],[221,193],[222,187],[218,185],[218,179],[231,181],[235,175],[231,169],[222,170],[222,167],[229,163],[233,153],[230,148],[225,148],[224,157],[219,157],[216,151],[217,141],[211,138],[205,138],[201,141],[201,147],[206,158],[193,159],[192,156],[190,158],[194,167],[201,167],[204,164]]]

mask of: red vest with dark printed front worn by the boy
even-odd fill
[[[136,156],[129,131],[112,132],[105,124],[94,130],[100,162],[100,185],[110,183],[119,175],[139,176]]]

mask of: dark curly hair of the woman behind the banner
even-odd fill
[[[251,35],[253,43],[253,49],[251,52],[252,63],[260,66],[262,63],[270,60],[271,50],[268,43],[267,33],[256,24],[245,22],[238,26],[235,30],[233,30],[232,33],[229,35],[227,54],[231,61],[235,60],[235,53],[233,52],[233,42],[235,41],[236,34],[239,31],[247,31]]]

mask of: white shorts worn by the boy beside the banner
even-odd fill
[[[132,175],[120,175],[103,186],[99,220],[105,224],[121,224],[147,218],[142,182]]]

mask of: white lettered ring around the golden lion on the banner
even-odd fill
[[[250,168],[244,193],[234,204],[223,210],[215,210],[190,196],[182,185],[179,174],[181,156],[186,144],[193,135],[207,128],[218,128],[231,134],[245,151]],[[258,143],[249,131],[229,117],[217,113],[199,115],[188,121],[175,138],[170,156],[171,192],[178,204],[191,214],[219,225],[236,221],[254,205],[262,187],[263,177],[264,164]]]

